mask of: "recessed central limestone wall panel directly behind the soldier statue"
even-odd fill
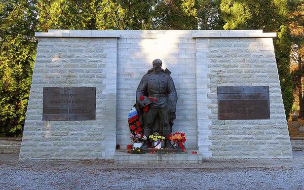
[[[195,40],[185,31],[122,31],[117,59],[117,144],[130,144],[128,113],[137,86],[154,59],[169,69],[178,93],[173,132],[185,132],[186,147],[197,149]]]

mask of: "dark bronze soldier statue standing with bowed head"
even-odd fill
[[[165,136],[165,146],[170,148],[168,136],[176,118],[177,93],[169,76],[171,72],[161,69],[161,60],[155,59],[152,65],[153,68],[143,76],[136,90],[136,108],[147,137],[143,149],[148,148],[149,136],[155,131]]]

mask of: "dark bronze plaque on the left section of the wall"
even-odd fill
[[[43,87],[42,120],[95,120],[96,87]]]

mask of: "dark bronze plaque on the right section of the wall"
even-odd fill
[[[219,86],[218,119],[270,119],[268,86]]]

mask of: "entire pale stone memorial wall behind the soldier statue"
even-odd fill
[[[154,59],[172,72],[178,93],[173,132],[186,133],[188,150],[198,150],[205,158],[292,157],[272,43],[276,34],[49,30],[36,36],[20,159],[113,159],[116,145],[125,149],[130,144],[128,112]],[[44,120],[44,87],[96,88],[96,118]],[[221,116],[220,87],[245,87],[249,92],[266,87],[268,110],[262,113],[249,100],[247,107],[228,102],[225,112],[237,117]],[[239,101],[239,93],[230,95]],[[264,95],[259,98],[256,101],[265,101]],[[238,112],[248,110],[251,117],[238,119]]]

